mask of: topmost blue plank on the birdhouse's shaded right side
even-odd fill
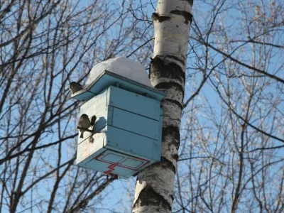
[[[125,89],[109,87],[107,104],[157,121],[160,119],[160,102]]]

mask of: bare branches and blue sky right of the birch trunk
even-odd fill
[[[283,212],[283,6],[195,1],[173,212]]]

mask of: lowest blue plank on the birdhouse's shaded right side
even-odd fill
[[[147,138],[136,133],[131,133],[114,126],[107,126],[107,140],[104,148],[126,153],[140,158],[160,159],[157,150],[158,141]]]

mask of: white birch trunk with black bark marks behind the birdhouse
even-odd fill
[[[187,42],[193,0],[159,0],[152,19],[155,47],[151,83],[166,93],[163,109],[163,141],[160,163],[138,174],[133,212],[171,212],[175,172],[180,146],[180,119],[185,93]]]

